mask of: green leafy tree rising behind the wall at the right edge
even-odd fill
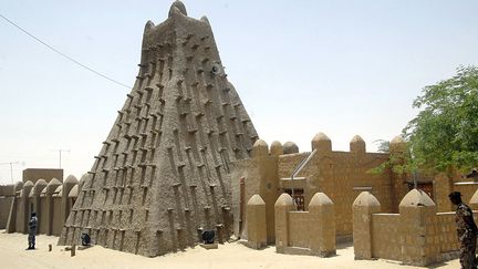
[[[458,68],[455,76],[424,87],[413,106],[420,112],[403,133],[418,167],[478,165],[478,68]]]

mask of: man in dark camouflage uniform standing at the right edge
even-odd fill
[[[461,269],[476,269],[475,251],[478,229],[472,218],[472,211],[469,206],[461,201],[459,192],[453,192],[448,197],[457,206],[455,221],[457,224],[458,241],[460,242]]]

